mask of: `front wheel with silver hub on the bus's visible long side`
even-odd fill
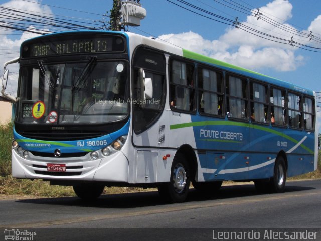
[[[172,203],[184,202],[190,188],[190,169],[184,155],[177,153],[171,168],[171,181],[158,186],[159,195]]]

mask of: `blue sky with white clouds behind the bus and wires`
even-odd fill
[[[35,4],[32,2],[40,4]],[[86,19],[87,22],[108,21],[104,17],[112,8],[112,0],[0,0],[0,6],[35,11],[54,16],[68,16]],[[321,92],[321,1],[320,0],[186,0],[202,9],[228,19],[235,19],[253,29],[266,34],[288,39],[291,37],[296,43],[314,47],[312,52],[291,46],[290,44],[276,43],[249,34],[235,26],[219,23],[212,19],[197,15],[173,4],[180,4],[177,0],[140,0],[146,9],[147,16],[139,27],[129,27],[129,31],[144,36],[154,36],[173,43],[185,49],[204,54],[224,62],[232,63],[262,74],[272,76],[304,88]],[[229,7],[225,6],[228,5]],[[231,5],[232,4],[232,5]],[[233,6],[234,4],[234,6]],[[235,5],[242,5],[243,10],[236,9]],[[186,5],[184,5],[187,7]],[[188,8],[188,7],[187,7]],[[191,8],[190,8],[191,9]],[[265,17],[277,21],[293,32],[289,33],[248,15],[245,10],[262,13]],[[77,10],[77,11],[74,11]],[[83,11],[83,12],[80,12]],[[86,13],[85,13],[86,12]],[[107,13],[108,14],[108,13]],[[206,15],[209,17],[209,15]],[[0,13],[1,17],[1,13]],[[213,16],[212,16],[213,17]],[[274,22],[275,23],[275,22]],[[278,25],[278,24],[277,24]],[[32,28],[32,26],[30,26]],[[44,29],[48,29],[43,27]],[[310,33],[312,40],[296,35],[297,31]],[[31,33],[11,32],[0,28],[0,64],[19,56],[20,44],[31,37]],[[320,48],[320,49],[317,49]],[[15,76],[18,67],[9,66],[12,73],[8,83],[8,92],[15,94],[17,82]],[[0,68],[0,75],[3,70]],[[321,99],[317,101],[321,102]],[[320,105],[320,104],[318,104]],[[318,130],[321,132],[321,113],[318,113]]]

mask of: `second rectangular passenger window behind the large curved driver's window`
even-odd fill
[[[198,68],[199,110],[202,114],[220,115],[223,112],[223,78],[213,70]]]

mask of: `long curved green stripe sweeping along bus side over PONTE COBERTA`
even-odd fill
[[[294,138],[282,133],[275,131],[273,129],[267,128],[267,127],[262,127],[262,126],[257,126],[249,123],[241,123],[241,122],[233,122],[233,121],[202,121],[202,122],[187,122],[187,123],[180,123],[180,124],[173,124],[170,125],[170,130],[174,129],[179,129],[179,128],[185,128],[185,127],[198,127],[198,126],[238,126],[238,127],[247,127],[247,128],[252,128],[252,129],[257,129],[269,133],[273,133],[277,136],[281,136],[283,138],[286,138],[290,140],[291,142],[294,143],[299,143],[299,141],[295,140]],[[314,152],[306,147],[305,145],[301,144],[300,145],[304,150],[309,152],[310,154],[314,154]]]

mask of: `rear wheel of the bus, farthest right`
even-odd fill
[[[284,158],[278,156],[274,165],[274,175],[270,180],[270,189],[272,192],[284,192],[286,182],[286,165]]]

